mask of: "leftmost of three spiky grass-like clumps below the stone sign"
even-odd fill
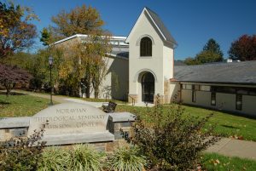
[[[42,160],[38,164],[38,171],[67,170],[69,160],[69,151],[56,147],[46,148],[42,154]]]

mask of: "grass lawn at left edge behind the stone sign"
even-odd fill
[[[6,98],[0,94],[0,117],[28,117],[48,107],[49,100],[26,94],[13,94]]]

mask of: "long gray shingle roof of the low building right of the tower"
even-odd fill
[[[256,60],[200,66],[174,66],[174,78],[194,83],[256,83]]]

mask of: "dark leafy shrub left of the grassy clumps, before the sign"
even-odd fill
[[[45,142],[40,142],[44,128],[28,138],[11,139],[0,145],[1,171],[36,170]]]

